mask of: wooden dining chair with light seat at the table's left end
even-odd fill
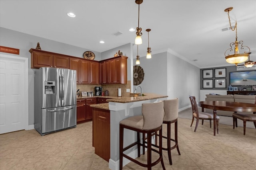
[[[210,121],[210,127],[212,127],[212,120],[213,120],[213,113],[207,113],[207,112],[198,112],[198,107],[196,104],[196,97],[195,96],[189,96],[191,105],[192,105],[192,113],[193,113],[193,117],[192,117],[192,122],[190,127],[192,127],[192,124],[194,122],[194,118],[196,118],[196,127],[194,132],[196,132],[196,129],[198,127],[198,122],[201,119],[202,120],[202,125],[204,123],[204,120],[209,120]],[[219,121],[220,121],[220,117],[217,115],[216,116],[217,119],[217,133],[219,133]]]

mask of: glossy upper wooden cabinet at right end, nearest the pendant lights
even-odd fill
[[[125,56],[110,59],[110,84],[127,84],[127,58]]]

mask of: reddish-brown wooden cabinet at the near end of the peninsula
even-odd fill
[[[95,154],[110,159],[110,110],[93,108],[92,146]]]

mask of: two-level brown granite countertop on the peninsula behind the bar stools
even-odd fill
[[[113,96],[106,96],[108,98]],[[166,95],[161,94],[154,94],[154,93],[145,93],[144,96],[138,97],[113,97],[111,99],[107,99],[107,102],[117,102],[117,103],[130,103],[130,102],[138,102],[143,100],[151,100],[151,99],[158,99],[158,98],[167,98]],[[90,107],[95,107],[99,109],[109,110],[108,103],[104,104],[91,104]]]

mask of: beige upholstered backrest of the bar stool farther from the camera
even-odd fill
[[[178,118],[179,100],[164,100],[164,121],[172,121]]]

